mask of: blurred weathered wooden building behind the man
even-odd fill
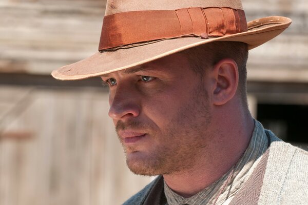
[[[248,59],[253,115],[308,150],[308,2],[242,0],[293,24]],[[50,73],[97,52],[105,0],[0,0],[0,205],[121,204],[150,177],[125,165],[99,78]]]

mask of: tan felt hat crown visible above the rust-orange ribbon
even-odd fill
[[[229,7],[242,9],[242,2],[240,0],[107,0],[105,16],[128,11],[176,10],[191,7]]]

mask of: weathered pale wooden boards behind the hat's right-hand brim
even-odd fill
[[[248,81],[308,83],[308,1],[243,0],[247,20],[286,16],[291,26],[249,52]]]

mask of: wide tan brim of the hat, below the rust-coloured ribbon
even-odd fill
[[[78,80],[100,76],[216,41],[243,42],[248,45],[248,49],[253,49],[282,33],[291,23],[292,20],[287,17],[264,17],[248,22],[248,31],[242,33],[208,39],[199,37],[165,39],[142,46],[97,52],[74,64],[54,70],[52,76],[60,80]]]

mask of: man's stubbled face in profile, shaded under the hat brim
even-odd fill
[[[211,109],[201,80],[183,54],[102,76],[109,116],[129,169],[141,175],[191,168],[207,146]]]

